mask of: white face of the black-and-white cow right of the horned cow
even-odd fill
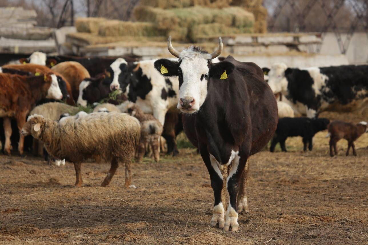
[[[286,69],[286,64],[279,63],[272,65],[268,72],[268,85],[273,93],[285,93],[287,91],[287,79],[285,77]]]

